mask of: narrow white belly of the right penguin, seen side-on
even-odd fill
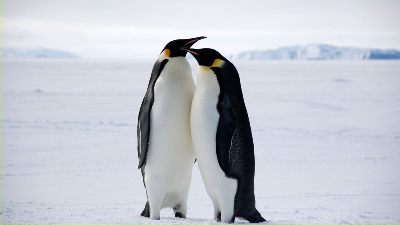
[[[225,177],[216,156],[216,131],[219,120],[216,106],[220,87],[216,75],[208,67],[199,66],[197,76],[190,115],[194,152],[206,191],[212,201],[219,205],[224,201],[223,204],[231,205],[233,210],[237,181]]]

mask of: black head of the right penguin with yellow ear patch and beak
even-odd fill
[[[188,51],[197,60],[199,66],[219,67],[228,61],[224,56],[212,48],[180,48]]]

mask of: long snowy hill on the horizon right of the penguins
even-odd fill
[[[400,59],[397,50],[338,47],[328,44],[307,44],[274,50],[252,50],[233,55],[232,60],[366,60]]]

